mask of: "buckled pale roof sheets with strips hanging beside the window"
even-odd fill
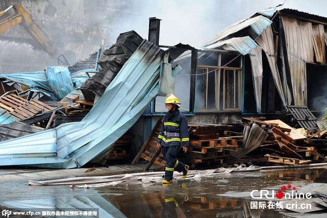
[[[271,17],[275,11],[276,7],[272,7],[259,11],[251,17],[233,23],[214,37],[202,43],[199,49],[203,50],[204,52],[205,49],[223,49],[227,51],[237,51],[242,55],[250,55],[254,86],[254,97],[256,102],[256,110],[258,112],[261,112],[263,74],[261,55],[262,50],[265,52],[268,58],[274,83],[276,85],[279,95],[281,96],[283,104],[286,106],[282,81],[279,77],[277,63],[275,60],[275,50],[273,43],[274,41],[272,30],[270,28],[272,21],[265,17]],[[265,16],[262,16],[260,14],[263,14]],[[235,37],[237,34],[240,34],[241,31],[244,35],[244,30],[247,30],[248,36]],[[256,40],[256,42],[254,40]],[[185,52],[183,55],[177,58],[176,61],[182,60],[187,57],[191,57],[190,52]],[[201,56],[199,56],[199,58],[200,57]]]

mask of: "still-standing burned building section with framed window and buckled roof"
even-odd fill
[[[247,114],[276,117],[288,105],[323,110],[327,18],[275,9],[259,11],[194,47],[197,58],[191,60],[189,51],[174,61],[183,68],[176,96],[191,122],[232,123]],[[157,98],[155,111],[164,111],[162,102]]]

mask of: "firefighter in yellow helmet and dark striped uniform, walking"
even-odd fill
[[[182,178],[188,176],[189,166],[176,159],[181,148],[186,153],[190,145],[188,120],[179,112],[180,103],[173,94],[166,96],[165,105],[168,112],[164,116],[161,130],[158,136],[157,146],[161,148],[162,155],[166,160],[165,179],[162,184],[171,183],[174,170],[183,172]]]

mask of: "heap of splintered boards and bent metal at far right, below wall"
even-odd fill
[[[251,154],[252,157],[263,156],[267,162],[285,165],[326,162],[324,146],[311,143],[312,138],[324,140],[325,136],[321,134],[292,128],[278,119],[244,117],[236,122],[244,126],[244,138],[242,151],[234,157],[240,159]],[[321,133],[318,127],[315,132]]]

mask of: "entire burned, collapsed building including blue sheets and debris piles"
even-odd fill
[[[6,110],[2,115],[3,124],[19,120],[45,129],[27,132],[22,136],[24,139],[15,133],[16,138],[1,142],[1,158],[5,165],[24,163],[45,167],[50,164],[71,168],[101,159],[105,163],[116,148],[113,156],[131,157],[139,151],[133,161],[136,162],[150,144],[148,154],[152,157],[142,157],[151,159],[151,163],[156,158],[153,154],[158,155],[159,151],[155,135],[160,117],[166,112],[162,106],[168,93],[178,96],[182,103],[180,110],[188,115],[194,146],[190,155],[184,156],[189,158],[188,163],[222,163],[230,156],[239,159],[263,143],[279,146],[279,150],[287,151],[293,159],[302,158],[296,152],[300,147],[293,141],[310,138],[310,131],[321,133],[321,129],[316,129],[317,118],[309,109],[319,110],[314,105],[314,96],[324,93],[325,77],[321,72],[325,66],[322,23],[325,19],[295,10],[276,12],[276,8],[269,8],[234,23],[200,46],[182,43],[171,46],[160,45],[160,20],[151,17],[149,41],[130,31],[122,33],[109,49],[103,50],[103,45],[103,52],[91,54],[71,67],[46,67],[45,71],[0,75],[2,85],[12,89],[17,89],[14,86],[18,84],[30,88],[20,93],[13,90],[18,97],[30,92],[27,100],[18,99],[17,104],[16,95],[3,87],[6,92],[4,98],[0,98],[3,103],[0,107]],[[83,66],[92,69],[79,70]],[[315,78],[321,79],[315,82]],[[34,92],[43,94],[40,100],[44,101],[47,95],[59,106],[50,102],[49,111],[42,107],[30,111],[30,103],[41,104],[34,101]],[[21,111],[26,116],[20,116]],[[302,127],[300,132],[295,132],[294,125],[291,127],[279,120],[291,118],[296,119],[296,128]],[[235,122],[242,126],[234,125]],[[13,126],[3,128],[8,132]],[[49,157],[46,163],[39,162],[34,155],[35,149],[43,143],[42,137],[49,139],[44,142],[46,149],[41,154]],[[271,140],[266,140],[267,137]],[[283,137],[289,140],[282,140]],[[3,138],[8,138],[6,133]],[[28,150],[19,153],[26,140],[36,141],[36,147],[27,146]],[[306,143],[308,146],[311,141]],[[125,146],[130,144],[133,146],[129,153],[120,151],[124,148],[126,152]],[[238,151],[239,145],[244,152],[232,154]],[[7,147],[11,148],[1,149]],[[276,148],[271,150],[277,151]],[[18,155],[13,161],[8,159],[8,152],[23,156]],[[326,161],[316,150],[309,153],[315,155],[315,160]],[[262,158],[264,161],[271,158],[273,162],[277,157]],[[292,158],[285,160],[293,161]],[[303,161],[301,163],[309,160]]]

